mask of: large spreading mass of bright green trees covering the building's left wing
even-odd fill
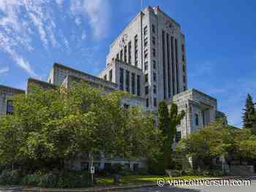
[[[85,82],[68,90],[35,85],[32,90],[15,96],[14,115],[1,119],[2,164],[63,169],[66,161],[100,152],[122,158],[157,153],[159,130],[153,116],[137,107],[124,110],[121,99],[126,93],[104,93]]]

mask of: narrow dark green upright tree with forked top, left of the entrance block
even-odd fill
[[[165,169],[172,169],[174,166],[172,156],[173,140],[176,134],[176,126],[181,123],[181,119],[184,118],[184,115],[184,111],[178,113],[176,104],[171,104],[169,110],[165,101],[159,103],[158,128],[162,132],[162,147],[160,150],[161,153],[159,153],[156,160],[153,163],[151,162],[151,169],[154,169],[154,166],[157,167],[154,171],[157,174],[164,173]]]

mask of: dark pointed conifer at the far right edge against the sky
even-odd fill
[[[252,130],[252,133],[256,135],[256,112],[255,104],[253,103],[252,96],[247,95],[246,104],[244,107],[243,114],[244,128],[249,128]]]

